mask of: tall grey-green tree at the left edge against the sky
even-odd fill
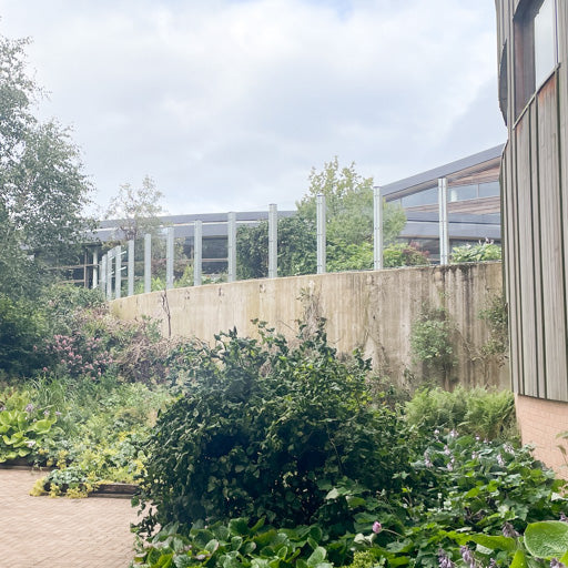
[[[38,288],[45,267],[73,258],[91,190],[69,129],[33,114],[42,93],[27,72],[28,43],[0,37],[0,283],[7,293]]]

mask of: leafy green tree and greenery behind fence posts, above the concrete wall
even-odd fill
[[[310,186],[297,214],[278,221],[278,275],[316,271],[316,196],[326,200],[327,270],[373,268],[373,179],[363,178],[355,164],[339,168],[337,156],[322,172],[312,169]],[[384,203],[384,243],[395,241],[406,223],[400,206]],[[268,224],[241,227],[237,234],[240,278],[267,275]]]

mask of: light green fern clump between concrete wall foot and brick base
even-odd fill
[[[515,397],[509,390],[424,388],[405,406],[406,420],[423,432],[457,429],[483,439],[515,437]]]

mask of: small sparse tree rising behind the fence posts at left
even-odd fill
[[[104,216],[119,220],[120,235],[116,236],[120,241],[135,241],[145,233],[155,235],[163,224],[159,219],[164,213],[160,203],[163,196],[154,180],[145,175],[140,187],[133,187],[130,183],[121,185]]]

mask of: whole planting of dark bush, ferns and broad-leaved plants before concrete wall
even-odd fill
[[[135,566],[565,558],[546,545],[564,535],[562,483],[518,446],[510,394],[430,389],[392,408],[368,362],[338,356],[323,327],[297,342],[232,332],[186,356],[185,394],[145,447]]]

